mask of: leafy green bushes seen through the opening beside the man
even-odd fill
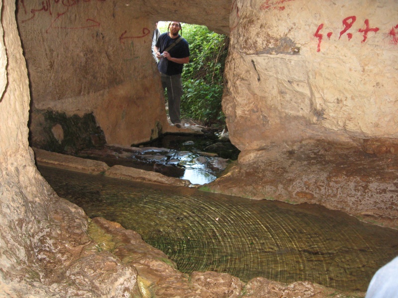
[[[183,37],[190,44],[190,63],[183,73],[183,116],[205,124],[225,122],[221,110],[224,64],[229,38],[205,26],[182,24]]]

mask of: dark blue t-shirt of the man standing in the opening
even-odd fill
[[[177,38],[179,38],[180,35],[176,38],[171,38],[169,36],[169,32],[162,33],[158,40],[156,41],[156,47],[159,48],[159,52],[163,53],[164,50],[167,49],[168,46],[170,46]],[[169,50],[169,54],[173,58],[186,58],[190,56],[190,48],[188,45],[188,41],[186,41],[184,38],[180,40],[173,48]],[[166,59],[166,58],[162,58]],[[159,62],[160,63],[160,62]],[[167,75],[175,75],[175,74],[182,74],[183,72],[183,64],[180,63],[175,63],[173,61],[168,61],[167,62],[167,72],[165,74]]]

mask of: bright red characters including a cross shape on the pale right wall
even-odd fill
[[[341,36],[342,36],[343,34],[346,34],[346,35],[347,35],[348,41],[350,41],[350,40],[352,39],[353,33],[347,32],[347,31],[350,30],[350,29],[352,28],[352,26],[354,25],[354,23],[355,23],[356,20],[357,20],[357,17],[356,17],[355,15],[348,16],[348,17],[346,17],[346,18],[343,19],[343,26],[344,26],[344,28],[343,28],[343,30],[340,31],[340,35],[339,35],[339,38],[338,38],[338,39],[340,39]],[[364,29],[360,28],[360,29],[358,30],[358,32],[363,33],[363,40],[362,40],[363,43],[367,40],[367,38],[368,38],[368,33],[369,33],[369,32],[375,32],[375,33],[376,33],[376,32],[379,31],[379,28],[377,28],[377,27],[375,27],[375,28],[370,28],[370,26],[369,26],[369,20],[368,20],[368,19],[366,19],[366,20],[364,21],[364,23],[365,23],[365,28],[364,28]],[[316,31],[315,31],[315,33],[314,33],[314,35],[313,35],[313,36],[316,37],[317,40],[318,40],[318,44],[317,44],[317,47],[316,47],[316,51],[317,51],[317,52],[320,52],[320,45],[321,45],[321,42],[322,42],[322,39],[323,39],[323,34],[321,34],[321,30],[322,30],[322,29],[323,29],[323,24],[320,24],[320,25],[316,28]],[[398,44],[398,32],[395,31],[396,29],[398,29],[398,24],[390,30],[390,35],[393,37],[393,40],[392,40],[391,43],[392,43],[392,44],[395,44],[395,45]],[[356,32],[356,31],[354,31],[354,33],[355,33],[355,32]],[[328,32],[328,33],[326,34],[328,40],[330,40],[330,38],[331,38],[332,35],[333,35],[333,32]]]

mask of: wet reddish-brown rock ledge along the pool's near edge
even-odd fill
[[[132,230],[120,224],[95,218],[89,228],[103,251],[112,253],[123,264],[132,265],[138,272],[139,292],[132,294],[149,298],[326,298],[364,297],[363,292],[343,293],[310,282],[291,284],[256,278],[247,284],[225,273],[193,272],[191,275],[177,270],[168,257],[142,241]]]

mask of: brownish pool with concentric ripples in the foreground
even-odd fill
[[[179,270],[248,281],[309,280],[366,291],[398,255],[398,231],[316,205],[292,206],[39,167],[59,196],[140,233]]]

